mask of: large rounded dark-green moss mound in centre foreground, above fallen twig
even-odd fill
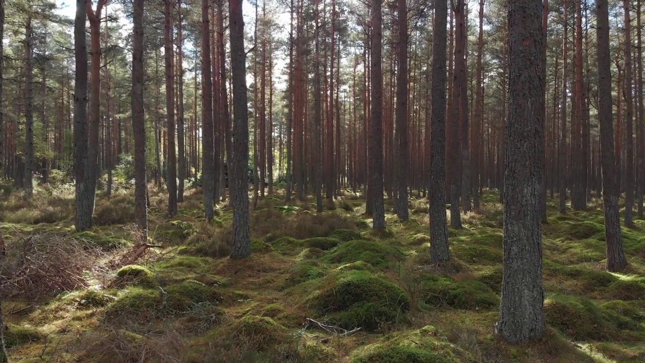
[[[374,331],[404,320],[410,298],[401,287],[366,271],[351,270],[330,276],[311,303],[332,324]]]

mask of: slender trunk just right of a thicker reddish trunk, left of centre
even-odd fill
[[[184,180],[186,179],[186,147],[184,145],[184,36],[183,36],[184,18],[181,14],[181,0],[177,1],[177,87],[179,88],[179,104],[177,105],[177,148],[179,154],[179,185],[177,187],[177,202],[184,201]]]

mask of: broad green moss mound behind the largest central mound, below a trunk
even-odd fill
[[[328,255],[328,260],[336,264],[349,264],[363,261],[375,268],[388,267],[393,262],[403,260],[404,256],[397,247],[384,242],[356,240],[339,245]]]

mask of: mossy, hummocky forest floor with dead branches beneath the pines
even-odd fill
[[[131,193],[97,196],[97,226],[83,233],[74,232],[73,190],[1,198],[10,362],[645,361],[645,221],[622,229],[626,273],[607,273],[599,203],[564,215],[550,204],[548,331],[510,346],[494,333],[497,194],[449,230],[445,265],[430,265],[427,200],[412,198],[404,223],[388,202],[388,229],[375,233],[364,200],[344,194],[322,214],[281,195],[261,199],[253,254],[236,261],[226,257],[228,207],[206,223],[203,195],[191,189],[168,220],[166,194],[151,188],[150,243],[163,247],[123,268],[136,234]]]

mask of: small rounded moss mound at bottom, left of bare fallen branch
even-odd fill
[[[247,315],[233,324],[233,336],[263,350],[286,339],[286,328],[268,316]]]

